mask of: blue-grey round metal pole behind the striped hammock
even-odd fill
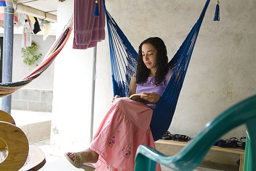
[[[4,41],[3,41],[3,72],[2,82],[12,82],[12,55],[13,55],[13,20],[14,8],[4,8]],[[2,99],[2,109],[11,114],[12,96]]]

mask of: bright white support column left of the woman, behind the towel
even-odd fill
[[[68,22],[74,2],[58,3],[57,36]],[[51,148],[52,155],[89,147],[91,50],[72,49],[74,32],[54,64]]]

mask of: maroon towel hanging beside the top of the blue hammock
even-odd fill
[[[105,39],[105,12],[98,3],[100,16],[94,17],[94,0],[74,0],[74,49],[87,49]]]

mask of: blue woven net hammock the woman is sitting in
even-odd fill
[[[114,18],[112,18],[106,10],[105,0],[102,0],[102,2],[108,27],[113,93],[114,95],[128,96],[130,80],[136,71],[138,53],[116,24]],[[172,60],[168,63],[170,69],[174,70],[174,74],[172,74],[170,81],[153,111],[150,129],[154,141],[160,139],[170,127],[188,64],[196,43],[196,38],[209,2],[210,0],[206,1],[196,24],[193,26],[192,30],[190,30],[190,33]],[[178,78],[176,78],[176,76],[178,76]]]

